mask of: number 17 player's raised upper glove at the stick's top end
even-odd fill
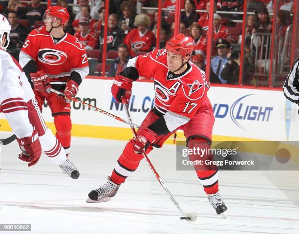
[[[133,80],[122,75],[115,76],[113,85],[111,87],[111,93],[116,102],[121,103],[122,97],[125,97],[126,104],[129,103],[132,94],[132,82]]]

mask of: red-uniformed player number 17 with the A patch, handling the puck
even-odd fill
[[[149,153],[152,147],[162,147],[177,129],[184,131],[189,148],[210,148],[213,108],[207,97],[205,73],[190,62],[193,48],[191,37],[178,34],[166,43],[166,49],[130,59],[127,68],[115,76],[111,92],[117,102],[123,97],[129,102],[133,81],[139,77],[153,78],[155,106],[138,129],[137,138],[126,145],[107,183],[89,192],[87,202],[104,202],[115,196],[143,159],[141,149]],[[213,155],[204,154],[202,160],[210,157]],[[195,160],[196,155],[190,158]],[[198,165],[195,171],[216,213],[225,212],[227,207],[218,191],[217,169]]]

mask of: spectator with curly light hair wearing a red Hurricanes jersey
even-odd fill
[[[136,56],[137,52],[149,52],[152,43],[156,40],[153,32],[149,30],[150,18],[148,15],[137,15],[134,24],[137,28],[131,29],[124,40],[132,57]]]

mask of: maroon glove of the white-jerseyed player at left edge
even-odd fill
[[[19,154],[19,158],[29,163],[28,167],[35,165],[42,154],[42,147],[39,140],[38,133],[33,130],[32,135],[24,138],[17,138],[19,146],[22,150],[21,154]]]

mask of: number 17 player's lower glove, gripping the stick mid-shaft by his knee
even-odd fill
[[[141,149],[147,150],[149,145],[155,141],[157,133],[150,130],[149,128],[141,128],[137,132],[137,138],[135,139],[133,149],[136,153],[141,153]]]

